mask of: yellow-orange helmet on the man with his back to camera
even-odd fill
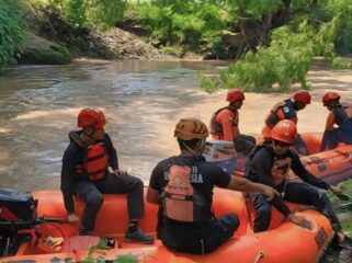
[[[182,140],[205,139],[208,135],[206,125],[197,118],[181,118],[174,128],[174,137]]]

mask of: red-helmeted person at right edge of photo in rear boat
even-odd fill
[[[322,104],[330,111],[322,136],[320,151],[333,149],[339,142],[352,144],[352,104],[340,103],[340,95],[329,91],[322,95]],[[337,125],[338,127],[334,127]]]

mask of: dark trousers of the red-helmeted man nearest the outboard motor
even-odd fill
[[[81,181],[77,194],[86,203],[81,225],[88,231],[94,229],[98,211],[103,204],[102,194],[127,194],[129,219],[144,216],[144,184],[140,179],[132,175],[118,178],[107,174],[100,181]]]

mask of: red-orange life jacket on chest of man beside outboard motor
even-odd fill
[[[79,175],[88,175],[91,181],[96,181],[105,176],[107,165],[109,157],[105,146],[99,142],[87,148],[87,158],[82,164],[76,167],[76,172]]]

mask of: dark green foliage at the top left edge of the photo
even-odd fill
[[[21,48],[24,34],[20,1],[0,1],[0,73],[15,64],[15,54]]]

